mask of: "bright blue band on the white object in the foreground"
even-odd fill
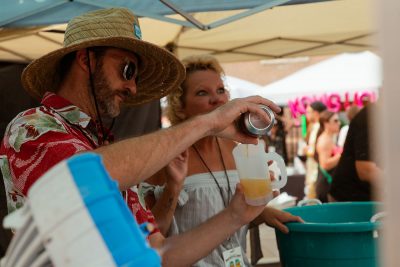
[[[161,266],[160,256],[146,242],[101,157],[84,153],[68,159],[67,164],[117,266]]]

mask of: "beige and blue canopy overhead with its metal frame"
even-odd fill
[[[66,25],[51,24],[65,23],[102,6],[132,8],[143,16],[144,40],[168,47],[179,58],[211,54],[221,62],[238,62],[376,48],[373,0],[315,1],[319,0],[173,1],[196,20],[212,26],[205,31],[190,27],[187,21],[170,23],[182,19],[179,15],[161,16],[174,13],[161,4],[167,1],[2,1],[0,60],[29,62],[60,48]],[[266,9],[273,5],[280,6]],[[243,18],[243,14],[252,15]],[[242,18],[231,21],[233,17]]]

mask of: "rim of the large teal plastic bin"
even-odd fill
[[[382,209],[382,203],[375,201],[364,201],[364,202],[334,202],[325,203],[322,205],[312,205],[312,206],[302,206],[302,207],[291,207],[284,209],[287,212],[296,214],[296,211],[313,210],[333,206],[374,206],[377,207],[375,213]],[[371,215],[372,217],[372,215]],[[324,233],[340,233],[340,232],[366,232],[379,230],[382,223],[380,221],[376,222],[344,222],[344,223],[313,223],[313,222],[289,222],[286,226],[289,231],[294,232],[324,232]]]

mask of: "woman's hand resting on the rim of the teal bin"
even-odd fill
[[[277,228],[279,231],[287,234],[289,229],[284,223],[286,222],[301,222],[304,223],[303,219],[299,216],[293,216],[289,212],[281,211],[271,207],[265,207],[264,211],[260,215],[262,221],[267,225]]]

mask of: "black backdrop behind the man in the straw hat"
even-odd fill
[[[0,139],[3,139],[8,123],[19,112],[39,105],[22,88],[20,77],[25,66],[24,64],[0,63]],[[115,120],[112,132],[115,140],[119,140],[152,132],[159,129],[160,126],[160,102],[154,101],[134,108],[124,107],[120,116]],[[132,153],[135,152],[132,151]],[[11,238],[10,231],[1,227],[6,214],[4,183],[0,181],[0,258],[4,255]]]

